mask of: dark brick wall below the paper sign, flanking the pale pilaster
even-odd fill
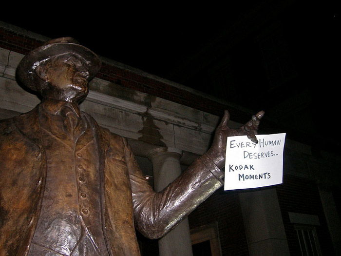
[[[276,186],[285,234],[291,256],[301,256],[294,224],[289,212],[315,215],[320,226],[316,226],[322,255],[334,255],[333,245],[324,217],[318,186],[315,181],[284,175],[283,184]],[[212,221],[218,222],[223,256],[248,256],[243,217],[237,191],[215,192],[189,215],[190,228],[197,228]]]

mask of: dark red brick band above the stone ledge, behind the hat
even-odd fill
[[[25,55],[42,43],[42,40],[0,27],[1,48]],[[153,79],[152,76],[147,76],[143,72],[139,74],[110,63],[103,62],[96,77],[217,116],[223,116],[223,111],[228,109],[234,117],[234,121],[237,122],[244,123],[250,118],[249,113],[231,108],[225,103],[173,86],[171,83],[161,81],[161,79]]]

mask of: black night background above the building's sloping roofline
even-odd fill
[[[31,4],[35,11],[0,20],[74,37],[102,57],[264,110],[317,149],[339,150],[338,1],[92,4]]]

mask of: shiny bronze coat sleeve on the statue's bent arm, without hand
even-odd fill
[[[148,238],[160,238],[223,185],[223,173],[204,154],[165,189],[155,193],[143,177],[125,140],[133,195],[135,227]]]

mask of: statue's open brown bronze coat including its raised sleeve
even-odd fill
[[[220,171],[198,158],[155,193],[125,138],[93,122],[98,141],[102,229],[110,255],[139,255],[135,228],[149,238],[169,232],[222,186]],[[214,175],[213,175],[214,174]],[[0,121],[0,256],[27,254],[39,217],[46,177],[38,107]],[[84,219],[91,232],[91,219]]]

